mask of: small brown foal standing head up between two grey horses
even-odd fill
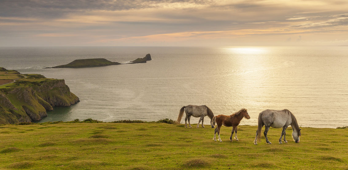
[[[250,119],[250,116],[249,116],[248,111],[246,109],[241,109],[241,110],[237,111],[235,114],[229,115],[229,116],[227,116],[227,115],[215,116],[213,118],[213,122],[214,123],[216,122],[217,127],[215,128],[213,140],[216,141],[216,132],[217,132],[217,135],[219,136],[219,141],[222,142],[222,140],[220,138],[220,128],[222,125],[224,125],[226,127],[232,126],[230,141],[232,141],[233,132],[236,133],[235,139],[238,141],[237,126],[239,125],[239,123],[243,119],[243,117],[245,117],[246,119]]]

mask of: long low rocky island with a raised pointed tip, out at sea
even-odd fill
[[[147,54],[143,58],[138,58],[136,60],[130,61],[129,63],[125,64],[135,64],[135,63],[146,63],[146,61],[151,60],[151,55]],[[107,65],[119,65],[121,63],[119,62],[112,62],[106,59],[78,59],[74,60],[69,64],[64,65],[58,65],[55,67],[46,67],[48,68],[81,68],[81,67],[101,67],[101,66],[107,66]]]

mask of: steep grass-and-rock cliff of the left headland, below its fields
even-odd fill
[[[0,124],[39,121],[53,107],[67,107],[80,101],[64,80],[42,75],[24,76],[0,86]]]

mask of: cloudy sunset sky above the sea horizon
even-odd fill
[[[0,46],[348,46],[348,1],[0,0]]]

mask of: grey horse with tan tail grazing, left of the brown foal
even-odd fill
[[[195,105],[188,105],[188,106],[184,106],[180,109],[179,112],[179,116],[177,117],[176,123],[179,124],[182,118],[182,115],[184,113],[186,113],[186,117],[185,117],[185,127],[187,128],[187,123],[186,121],[189,120],[189,126],[192,128],[191,124],[190,124],[190,118],[191,116],[193,117],[200,117],[199,118],[199,122],[197,124],[197,128],[199,127],[199,123],[200,121],[202,121],[202,127],[204,127],[203,125],[203,121],[204,121],[204,117],[208,116],[210,118],[210,125],[212,126],[212,128],[214,128],[215,126],[215,122],[213,123],[212,119],[214,117],[214,114],[212,112],[212,110],[210,110],[207,106],[202,105],[202,106],[195,106]]]

